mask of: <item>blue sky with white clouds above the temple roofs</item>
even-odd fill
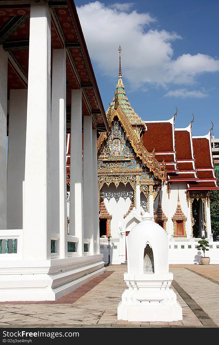
[[[176,128],[219,137],[219,2],[77,1],[82,30],[105,110],[118,81],[143,120],[167,120]]]

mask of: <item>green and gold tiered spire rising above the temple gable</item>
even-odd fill
[[[122,82],[121,72],[121,47],[119,46],[119,80],[116,86],[115,96],[111,102],[107,114],[110,116],[113,109],[117,109],[118,105],[121,105],[127,119],[132,126],[135,126],[136,134],[140,136],[142,129],[146,128],[145,122],[138,116],[135,110],[131,107],[128,97],[126,96],[125,85]]]

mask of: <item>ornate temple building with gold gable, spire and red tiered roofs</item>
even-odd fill
[[[121,48],[119,48],[120,54]],[[110,130],[98,141],[100,250],[108,262],[127,262],[130,230],[149,212],[169,237],[170,264],[199,264],[200,237],[209,241],[210,264],[219,264],[219,245],[211,233],[209,191],[218,189],[211,151],[211,130],[192,136],[191,121],[175,128],[175,116],[143,121],[119,80],[107,111]]]

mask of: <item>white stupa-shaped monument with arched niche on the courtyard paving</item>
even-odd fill
[[[168,235],[146,212],[143,221],[126,237],[128,273],[124,280],[128,289],[117,308],[118,320],[178,321],[182,307],[170,288]]]

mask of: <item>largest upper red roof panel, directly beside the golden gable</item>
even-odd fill
[[[147,130],[143,133],[143,144],[152,152],[172,152],[173,148],[173,127],[170,122],[147,123]]]

